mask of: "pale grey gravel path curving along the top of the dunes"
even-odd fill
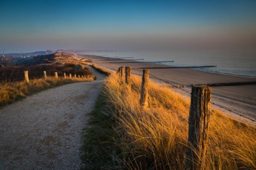
[[[45,90],[0,109],[0,169],[80,169],[81,132],[105,79],[92,72],[96,81]]]

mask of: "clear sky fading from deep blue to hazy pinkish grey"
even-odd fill
[[[2,1],[0,52],[255,50],[255,9],[255,0]]]

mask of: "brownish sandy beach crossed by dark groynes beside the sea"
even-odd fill
[[[90,56],[91,57],[91,56]],[[79,56],[78,58],[84,58]],[[119,67],[130,66],[132,74],[142,75],[140,67],[165,67],[155,63],[113,63],[113,62],[129,62],[127,59],[102,60],[100,56],[92,56],[92,61],[96,65],[105,69],[116,71]],[[111,63],[107,63],[111,62]],[[149,69],[151,80],[158,83],[168,82],[171,85],[178,85],[181,89],[175,88],[182,95],[190,98],[191,85],[193,84],[208,84],[208,83],[230,83],[256,81],[255,78],[244,78],[240,76],[229,76],[222,74],[214,74],[202,72],[194,69]],[[164,81],[161,81],[161,80]],[[186,92],[184,92],[186,91]],[[211,107],[219,109],[226,115],[238,119],[242,122],[256,126],[256,85],[236,85],[226,87],[212,87]],[[219,107],[220,105],[221,107]],[[246,118],[244,118],[246,117]],[[249,119],[248,119],[249,118]]]

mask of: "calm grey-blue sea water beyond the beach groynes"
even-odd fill
[[[144,51],[144,52],[91,52],[105,57],[144,58],[144,61],[171,61],[171,66],[217,65],[198,70],[256,78],[256,50],[254,51]]]

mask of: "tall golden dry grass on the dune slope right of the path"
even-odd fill
[[[184,169],[190,101],[169,87],[149,83],[149,107],[139,105],[141,78],[132,89],[115,74],[104,92],[119,128],[125,169]],[[256,128],[211,111],[202,169],[256,169]]]

